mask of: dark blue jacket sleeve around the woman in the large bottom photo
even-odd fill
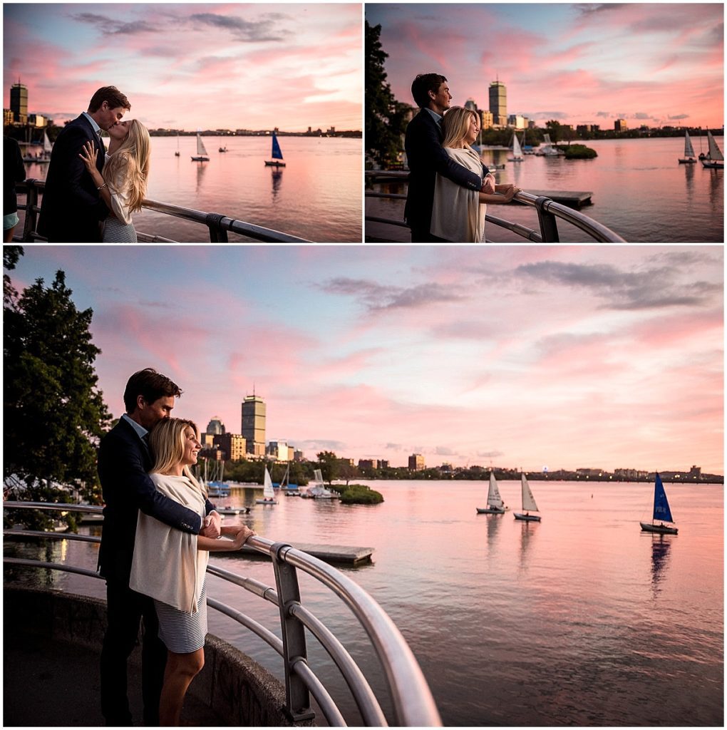
[[[105,448],[104,448],[105,446]],[[144,470],[142,455],[138,447],[126,439],[114,439],[112,444],[101,443],[99,453],[99,474],[104,481],[104,502],[115,506],[123,500],[166,525],[198,534],[202,518],[193,510],[183,507],[174,499],[157,490]],[[104,476],[108,479],[104,480]]]

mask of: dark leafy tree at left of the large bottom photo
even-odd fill
[[[62,271],[20,296],[4,284],[4,491],[42,502],[77,491],[100,502],[96,446],[111,418],[93,369],[93,311],[76,309]]]

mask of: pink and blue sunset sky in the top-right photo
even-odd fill
[[[381,24],[385,68],[413,104],[416,74],[450,82],[453,103],[489,108],[507,87],[508,114],[540,125],[721,127],[724,6],[718,4],[367,4]]]

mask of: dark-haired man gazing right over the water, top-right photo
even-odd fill
[[[443,239],[429,230],[437,172],[470,190],[494,193],[495,188],[492,177],[482,183],[489,172],[484,165],[482,175],[478,175],[457,164],[442,149],[442,117],[452,101],[447,79],[442,74],[419,74],[412,82],[412,96],[419,113],[409,122],[404,138],[410,171],[404,220],[411,228],[412,243],[439,242]]]

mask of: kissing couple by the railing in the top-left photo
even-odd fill
[[[51,243],[136,242],[149,175],[149,132],[115,86],[104,86],[58,134],[50,154],[38,233]],[[109,135],[108,152],[101,133]]]

